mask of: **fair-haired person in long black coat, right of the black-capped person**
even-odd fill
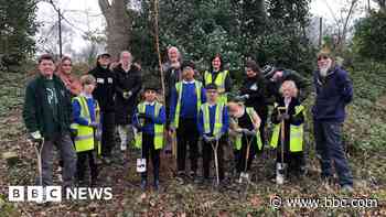
[[[142,86],[140,69],[132,65],[132,56],[128,51],[120,53],[120,61],[114,68],[116,74],[116,123],[120,137],[120,150],[125,151],[129,141],[133,139],[131,115],[136,99]]]

